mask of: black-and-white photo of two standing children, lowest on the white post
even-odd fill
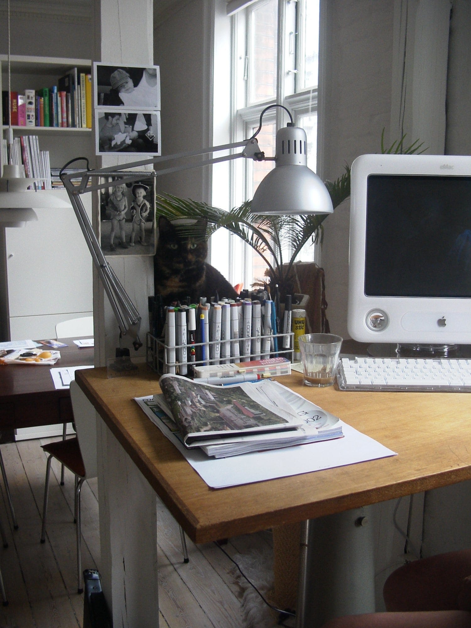
[[[106,183],[106,179],[100,180]],[[100,190],[100,246],[105,255],[153,255],[155,252],[154,178],[122,183],[110,177]]]

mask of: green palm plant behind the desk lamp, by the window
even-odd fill
[[[381,136],[381,152],[412,154],[420,150],[422,144],[416,140],[404,147],[404,135],[389,148],[384,146],[384,129]],[[423,152],[423,151],[420,151]],[[325,181],[335,210],[350,196],[350,166],[335,181]],[[239,236],[263,258],[268,268],[269,283],[278,284],[281,298],[293,294],[293,273],[295,259],[306,243],[322,244],[323,221],[328,214],[319,215],[256,215],[251,214],[251,202],[226,212],[207,203],[178,198],[173,195],[157,195],[156,212],[169,220],[205,219],[207,237],[224,227]],[[288,253],[287,253],[288,251]],[[264,281],[260,278],[261,282]]]

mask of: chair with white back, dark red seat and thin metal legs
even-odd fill
[[[81,560],[81,516],[80,516],[80,491],[85,480],[97,476],[97,438],[95,409],[85,394],[78,387],[77,382],[70,382],[70,399],[72,401],[73,419],[76,438],[60,440],[55,443],[43,445],[43,450],[49,454],[46,465],[46,480],[43,502],[43,525],[41,529],[41,543],[46,540],[46,514],[48,508],[49,479],[51,473],[52,458],[56,458],[75,475],[74,511],[77,522],[77,592],[82,593],[82,560]],[[185,563],[188,562],[187,546],[182,533],[182,547]]]

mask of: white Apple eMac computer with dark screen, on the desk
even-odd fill
[[[471,157],[354,161],[348,328],[359,342],[471,344]]]

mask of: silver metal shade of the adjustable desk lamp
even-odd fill
[[[295,126],[276,134],[275,167],[261,181],[252,214],[332,214],[330,194],[307,166],[306,132]]]

